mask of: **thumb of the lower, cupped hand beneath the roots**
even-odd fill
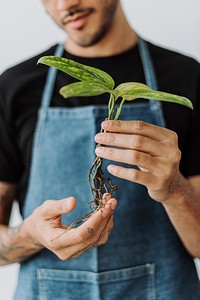
[[[71,212],[76,206],[76,199],[68,197],[62,200],[47,200],[42,204],[42,214],[46,218]]]

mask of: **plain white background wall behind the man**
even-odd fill
[[[144,38],[200,61],[199,0],[122,0],[122,3],[132,26]],[[63,32],[46,14],[41,1],[0,0],[0,73],[63,39]],[[19,222],[15,208],[12,224]],[[0,300],[12,299],[17,270],[18,265],[0,267]]]

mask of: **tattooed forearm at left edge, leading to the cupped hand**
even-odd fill
[[[24,223],[16,227],[0,225],[0,265],[22,262],[40,249],[24,231]]]

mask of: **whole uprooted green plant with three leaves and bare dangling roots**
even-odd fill
[[[142,83],[125,82],[115,88],[115,82],[108,73],[73,60],[56,56],[44,56],[39,59],[38,63],[55,67],[79,80],[60,89],[60,94],[64,98],[98,96],[104,93],[110,94],[107,120],[118,120],[124,102],[133,101],[138,98],[174,102],[193,108],[190,100],[185,97],[155,91]],[[117,101],[119,104],[117,103],[118,107],[116,108]],[[104,130],[101,131],[104,132]],[[102,162],[102,158],[96,157],[88,174],[88,182],[93,194],[91,212],[75,221],[70,228],[85,221],[94,211],[103,206],[102,196],[104,192],[109,192],[112,195],[118,188],[112,183],[110,178],[103,176]]]

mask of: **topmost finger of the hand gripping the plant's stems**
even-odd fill
[[[162,139],[170,139],[176,134],[166,128],[162,128],[156,125],[152,125],[143,121],[112,121],[106,120],[101,124],[102,128],[110,132],[128,133],[128,134],[140,134],[149,138],[153,138],[157,141]]]

